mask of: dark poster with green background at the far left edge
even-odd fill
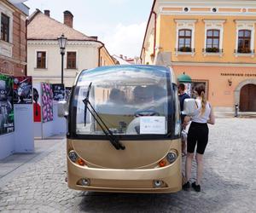
[[[12,77],[0,74],[0,135],[15,130]]]

